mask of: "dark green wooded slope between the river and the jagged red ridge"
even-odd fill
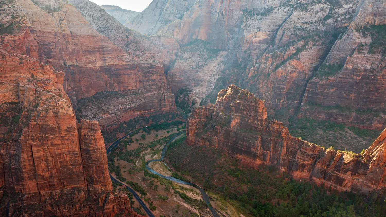
[[[256,217],[383,216],[385,191],[366,197],[337,192],[332,186],[296,181],[273,166],[250,169],[218,149],[188,146],[183,139],[169,146],[166,158],[177,171],[189,171],[193,181],[221,193]]]

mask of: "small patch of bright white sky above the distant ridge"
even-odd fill
[[[118,5],[127,10],[141,12],[152,0],[90,0],[97,5]]]

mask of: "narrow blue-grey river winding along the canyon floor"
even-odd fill
[[[159,173],[157,173],[156,171],[152,170],[150,168],[150,166],[148,165],[150,162],[154,162],[154,161],[162,161],[164,159],[164,155],[165,155],[165,152],[166,152],[166,149],[168,149],[169,147],[169,144],[170,142],[173,142],[179,135],[181,135],[182,133],[185,133],[185,131],[180,131],[180,133],[176,136],[174,136],[173,138],[171,138],[169,140],[169,142],[167,142],[165,144],[165,147],[162,149],[162,154],[161,154],[161,158],[160,159],[152,159],[152,160],[149,160],[146,162],[145,166],[146,166],[146,169],[149,170],[151,173],[154,173],[156,175],[159,175],[161,176],[162,178],[166,178],[167,180],[170,180],[170,181],[174,181],[176,183],[180,183],[180,184],[185,184],[185,185],[190,185],[190,186],[193,186],[195,188],[197,188],[201,194],[202,194],[202,199],[205,201],[205,203],[207,203],[208,207],[209,207],[209,210],[210,212],[212,212],[213,216],[214,217],[220,217],[220,215],[217,214],[216,210],[213,209],[212,205],[210,205],[210,197],[208,196],[208,194],[205,192],[205,190],[203,190],[200,186],[196,185],[196,184],[193,184],[193,183],[190,183],[190,182],[187,182],[187,181],[183,181],[183,180],[180,180],[178,178],[174,178],[173,176],[164,176],[164,175],[161,175]],[[166,165],[166,163],[165,163]]]

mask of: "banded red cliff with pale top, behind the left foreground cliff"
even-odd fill
[[[159,61],[142,61],[143,56],[133,58],[134,54],[127,54],[95,30],[97,25],[91,25],[75,7],[53,3],[39,1],[35,4],[20,0],[12,7],[5,7],[8,14],[3,21],[17,22],[18,28],[12,34],[1,36],[4,39],[3,49],[9,53],[24,53],[64,71],[64,90],[74,104],[81,98],[104,90],[135,90],[141,93],[138,96],[142,99],[141,103],[124,101],[132,106],[120,110],[119,115],[94,114],[93,120],[101,120],[101,124],[117,122],[125,112],[132,113],[133,110],[135,114],[141,114],[143,108],[149,108],[149,111],[175,109],[174,96],[166,85],[164,68]],[[55,10],[47,9],[47,5],[55,7]],[[12,14],[16,15],[15,18]],[[119,22],[116,25],[122,26]],[[125,32],[125,27],[122,28]],[[120,37],[125,38],[122,35]],[[118,109],[119,105],[115,110]]]

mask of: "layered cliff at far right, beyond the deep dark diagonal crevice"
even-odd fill
[[[386,59],[382,47],[374,47],[384,41],[376,29],[386,24],[385,20],[384,1],[359,3],[354,20],[342,38],[335,42],[322,65],[341,69],[327,76],[319,69],[318,76],[308,83],[301,115],[349,122],[368,129],[386,126],[386,115],[384,112],[379,114],[386,103],[383,85]],[[367,27],[369,25],[375,26]],[[329,108],[317,109],[313,105]],[[337,106],[345,110],[337,109]]]

